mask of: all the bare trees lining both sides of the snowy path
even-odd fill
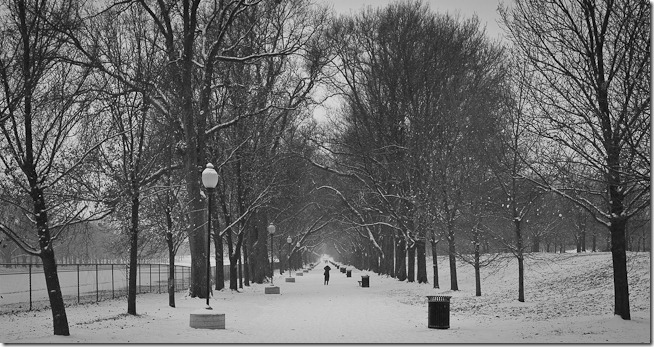
[[[524,300],[524,253],[541,242],[524,230],[544,236],[568,206],[610,231],[629,319],[625,229],[649,220],[649,7],[501,13],[510,47],[419,2],[343,17],[308,0],[2,4],[0,231],[41,259],[54,333],[69,334],[55,248],[93,220],[120,230],[136,314],[146,240],[171,269],[188,242],[191,297],[210,295],[210,242],[215,288],[227,258],[236,290],[239,262],[262,283],[271,248],[301,263],[326,245],[427,282],[427,242],[436,266],[444,240],[451,289],[456,257],[479,277],[484,251],[509,251]],[[343,101],[333,124],[312,120],[317,86]]]

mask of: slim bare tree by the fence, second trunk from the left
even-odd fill
[[[150,31],[144,20],[147,16],[138,7],[124,12],[109,10],[100,22],[106,32],[102,47],[113,52],[121,68],[133,71],[144,84],[152,83],[160,70],[154,58],[155,42],[146,43]],[[153,119],[158,112],[142,93],[106,73],[98,78],[98,84],[106,117],[96,120],[96,131],[90,136],[116,134],[101,146],[98,170],[114,185],[116,219],[129,235],[127,313],[135,315],[138,253],[143,249],[139,245],[141,204],[144,190],[171,169],[160,150],[170,145],[157,136]]]

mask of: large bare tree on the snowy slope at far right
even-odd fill
[[[650,204],[650,4],[519,0],[501,14],[535,76],[529,97],[542,125],[535,130],[548,147],[563,148],[547,170],[586,166],[603,189],[579,190],[547,177],[535,182],[610,230],[615,314],[630,319],[625,230]]]

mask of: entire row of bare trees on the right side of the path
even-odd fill
[[[337,250],[426,282],[430,242],[438,286],[443,240],[450,289],[458,257],[474,265],[477,295],[480,268],[497,256],[484,251],[508,252],[524,301],[525,253],[561,229],[581,251],[586,230],[603,226],[615,313],[629,319],[627,225],[650,227],[649,10],[516,1],[500,8],[507,46],[476,18],[421,3],[336,20],[327,69],[344,106],[308,159],[334,175],[321,189],[341,201],[349,230]]]

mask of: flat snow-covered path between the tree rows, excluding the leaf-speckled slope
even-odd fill
[[[67,308],[71,336],[52,335],[48,310],[0,316],[0,342],[5,343],[649,343],[649,310],[632,313],[631,321],[612,314],[554,315],[529,318],[536,303],[499,302],[474,298],[469,291],[436,290],[431,285],[399,282],[370,275],[370,288],[333,269],[323,285],[322,267],[295,283],[279,275],[280,295],[264,294],[267,284],[253,284],[242,292],[215,293],[215,312],[226,314],[226,329],[189,327],[189,315],[203,310],[204,299],[179,293],[177,308],[166,294],[137,297],[139,316],[127,316],[126,301]],[[462,271],[463,272],[463,271]],[[295,273],[294,273],[295,275]],[[490,286],[498,287],[488,279]],[[452,295],[450,329],[427,327],[425,294]],[[564,293],[562,293],[564,294]],[[569,293],[568,293],[569,294]],[[478,300],[478,301],[475,301]],[[476,311],[471,305],[495,305]],[[607,303],[611,305],[611,303]],[[488,306],[484,306],[488,307]],[[502,310],[500,312],[500,309]],[[610,312],[610,308],[607,308]],[[489,313],[489,312],[492,312]],[[506,312],[515,312],[508,315]]]

